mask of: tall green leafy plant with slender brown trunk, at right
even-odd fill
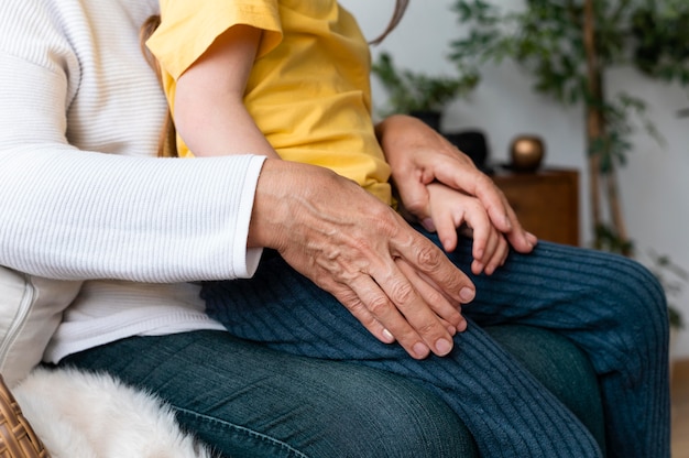
[[[485,62],[512,58],[532,74],[536,91],[583,106],[593,247],[633,255],[616,171],[632,149],[634,117],[659,143],[663,139],[644,116],[645,100],[630,94],[611,96],[605,73],[627,66],[659,81],[689,86],[689,2],[526,0],[523,11],[506,13],[493,3],[455,1],[452,9],[468,34],[451,43],[450,58],[461,72],[475,75]],[[682,282],[686,273],[666,257],[654,262],[666,294],[675,294],[677,284],[664,272]],[[668,312],[672,328],[679,329],[678,309],[670,304]]]

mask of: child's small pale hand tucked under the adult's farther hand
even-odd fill
[[[510,246],[491,222],[481,201],[441,183],[431,183],[427,188],[434,227],[426,229],[437,231],[442,248],[450,252],[457,248],[458,229],[468,228],[473,238],[471,272],[477,275],[495,272],[507,259]],[[425,222],[428,226],[428,221]]]

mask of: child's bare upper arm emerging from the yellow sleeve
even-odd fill
[[[243,103],[261,33],[248,25],[228,29],[177,79],[175,127],[194,155],[278,157]]]

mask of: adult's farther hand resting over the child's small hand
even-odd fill
[[[516,251],[533,250],[536,237],[522,228],[503,193],[438,132],[418,119],[393,116],[376,126],[376,134],[404,207],[424,226],[431,223],[426,186],[437,181],[477,197],[491,222]],[[485,248],[479,248],[482,249]]]

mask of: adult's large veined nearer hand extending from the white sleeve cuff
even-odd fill
[[[389,206],[326,168],[266,160],[249,246],[276,249],[414,358],[447,355],[466,329],[460,304],[473,299],[471,281]]]

